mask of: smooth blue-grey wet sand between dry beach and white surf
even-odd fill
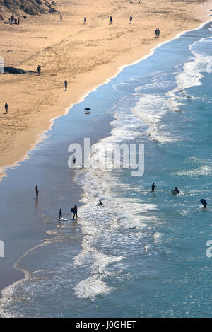
[[[84,108],[88,101],[92,112],[85,115]],[[73,234],[79,233],[78,246],[81,243],[83,234],[78,223],[73,222],[70,208],[75,204],[81,205],[82,189],[73,181],[78,169],[74,171],[68,167],[68,147],[76,142],[83,146],[84,135],[90,137],[90,144],[94,144],[110,132],[112,115],[105,114],[106,105],[102,108],[95,108],[95,105],[95,98],[87,98],[68,115],[58,118],[49,130],[48,138],[30,152],[30,158],[20,166],[8,169],[8,176],[2,178],[0,239],[5,244],[5,257],[0,258],[0,292],[33,273],[34,262],[30,262],[28,267],[22,259],[35,246],[48,244],[51,238],[55,241],[51,232],[59,226],[60,207],[63,217],[69,219],[73,227]],[[35,199],[35,185],[39,189],[38,200]],[[12,288],[8,287],[3,294],[3,300],[9,301]]]

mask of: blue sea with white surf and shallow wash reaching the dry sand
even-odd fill
[[[55,122],[30,159],[8,171],[2,190],[17,172],[40,165],[36,179],[50,189],[36,213],[49,229],[16,264],[25,279],[3,291],[1,316],[212,316],[211,77],[207,23],[91,92]],[[88,105],[85,118],[79,113]],[[104,154],[97,168],[70,176],[68,143],[83,137],[100,151],[144,144],[143,176],[105,169]],[[97,155],[91,158],[95,164]],[[175,186],[179,195],[171,194]],[[69,211],[71,189],[81,197],[78,220],[57,224],[59,205]]]

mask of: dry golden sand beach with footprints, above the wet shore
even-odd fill
[[[158,42],[209,21],[212,7],[211,1],[201,0],[138,1],[59,0],[55,3],[63,21],[52,13],[28,16],[20,25],[0,23],[5,65],[35,71],[40,64],[42,69],[40,76],[0,74],[0,167],[25,158],[52,118],[117,74],[120,66],[148,55]],[[155,38],[155,28],[160,28],[160,38]]]

